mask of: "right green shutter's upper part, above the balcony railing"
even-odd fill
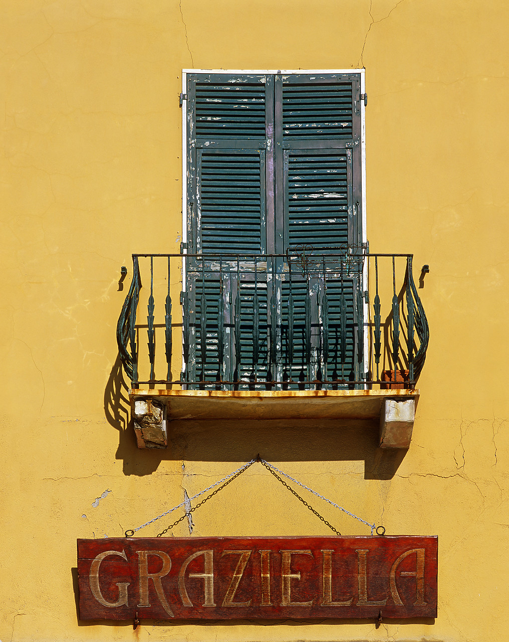
[[[275,101],[284,250],[360,245],[360,76],[276,76]]]

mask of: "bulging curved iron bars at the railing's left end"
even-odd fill
[[[124,370],[131,379],[137,381],[137,347],[136,347],[136,309],[140,296],[142,282],[140,279],[140,268],[138,257],[133,256],[133,280],[128,295],[122,306],[121,315],[117,323],[117,344]],[[130,344],[130,345],[129,345]],[[130,348],[130,350],[129,350]]]

